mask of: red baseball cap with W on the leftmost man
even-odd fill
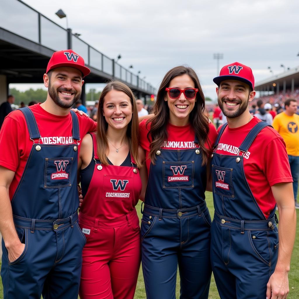
[[[84,65],[84,59],[73,50],[54,52],[49,60],[46,73],[53,70],[53,68],[59,68],[61,66],[77,68],[82,72],[83,77],[87,76],[90,73],[90,69]]]

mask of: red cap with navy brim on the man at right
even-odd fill
[[[225,65],[218,77],[213,79],[214,83],[218,86],[224,80],[238,80],[248,84],[252,89],[254,89],[254,77],[252,74],[252,69],[239,62],[234,62]]]

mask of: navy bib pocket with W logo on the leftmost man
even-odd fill
[[[45,158],[45,188],[71,186],[73,158]]]

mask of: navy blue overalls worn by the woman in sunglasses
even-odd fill
[[[206,167],[193,149],[161,149],[150,164],[141,219],[142,269],[148,299],[175,299],[179,265],[181,299],[208,298],[210,214]]]

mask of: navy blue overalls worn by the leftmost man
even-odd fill
[[[21,256],[10,263],[2,239],[4,299],[78,297],[82,249],[86,238],[78,225],[77,116],[71,111],[74,143],[39,144],[32,111],[25,115],[33,141],[24,173],[11,200]]]

